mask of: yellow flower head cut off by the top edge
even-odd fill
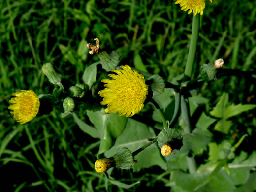
[[[210,2],[212,2],[212,0],[210,0]],[[180,4],[181,10],[189,10],[188,14],[194,11],[194,15],[197,13],[202,15],[205,8],[205,0],[177,0],[175,4]]]

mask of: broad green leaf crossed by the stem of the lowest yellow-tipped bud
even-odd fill
[[[156,135],[152,128],[147,125],[128,118],[126,128],[123,133],[117,138],[115,145],[105,152],[106,157],[111,157],[115,152],[122,147],[127,147],[131,152],[136,151],[148,143],[148,138],[154,138]],[[149,158],[152,157],[152,158]],[[133,166],[135,171],[142,168],[148,168],[153,165],[158,165],[163,169],[166,168],[166,163],[160,155],[160,150],[156,145],[150,146],[135,156],[137,162]]]

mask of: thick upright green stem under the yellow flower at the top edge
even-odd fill
[[[196,44],[197,44],[197,39],[199,34],[199,24],[200,24],[200,14],[197,14],[196,16],[193,15],[190,49],[189,49],[188,60],[187,60],[187,64],[184,72],[185,74],[184,80],[187,80],[187,78],[191,78],[194,57],[196,52]]]

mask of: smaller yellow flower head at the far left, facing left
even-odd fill
[[[12,94],[16,96],[10,100],[8,109],[14,114],[14,119],[21,124],[31,121],[38,113],[40,101],[32,90],[21,90]]]

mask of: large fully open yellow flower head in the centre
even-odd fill
[[[113,79],[103,79],[107,87],[98,92],[104,97],[102,105],[107,105],[106,113],[119,112],[126,117],[132,117],[140,112],[144,105],[148,86],[145,84],[144,76],[135,70],[131,70],[128,65],[121,66],[120,70],[112,70],[116,74],[109,74]]]

